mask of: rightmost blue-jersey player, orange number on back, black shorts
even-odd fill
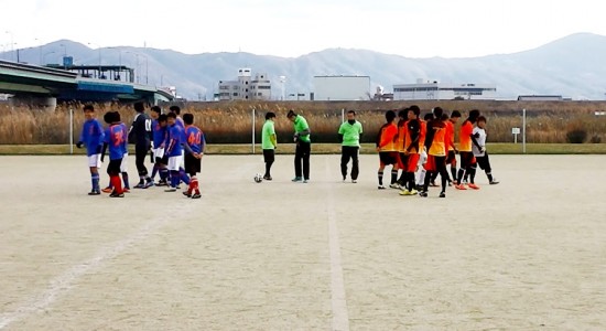
[[[185,154],[185,172],[190,174],[190,185],[187,191],[183,192],[187,197],[199,199],[199,184],[196,174],[202,170],[202,157],[206,149],[206,139],[204,132],[194,126],[194,115],[184,114],[183,121],[185,122],[185,145],[191,149],[191,152]]]

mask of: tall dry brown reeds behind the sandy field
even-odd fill
[[[315,142],[335,142],[342,120],[342,109],[355,109],[365,128],[362,141],[372,142],[377,130],[385,122],[388,109],[410,106],[412,103],[312,103],[312,102],[239,102],[239,103],[188,103],[182,114],[192,113],[207,135],[209,143],[247,143],[251,141],[252,109],[256,114],[256,139],[260,141],[260,130],[266,111],[278,115],[275,129],[280,142],[290,142],[292,124],[285,115],[294,109],[303,115],[312,129]],[[487,130],[491,142],[511,142],[511,128],[522,127],[522,111],[528,109],[527,141],[530,143],[566,142],[566,132],[582,128],[587,131],[587,140],[606,142],[606,116],[595,116],[594,111],[605,111],[604,102],[418,102],[422,115],[435,106],[446,111],[458,109],[464,117],[470,109],[479,109],[487,118]],[[122,120],[132,121],[134,111],[130,106],[97,105],[98,118],[106,110],[118,110]],[[167,107],[165,107],[167,108]],[[0,104],[0,142],[12,145],[67,143],[69,141],[69,109],[74,110],[74,139],[77,140],[84,115],[82,105],[61,105],[54,111],[29,108],[13,108]],[[521,137],[519,137],[521,139]]]

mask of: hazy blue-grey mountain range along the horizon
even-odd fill
[[[122,64],[136,70],[140,83],[175,86],[177,94],[192,100],[210,100],[219,81],[237,78],[238,68],[264,73],[272,82],[272,96],[279,99],[280,76],[285,76],[285,95],[313,92],[317,75],[370,76],[372,90],[416,79],[452,84],[495,84],[499,99],[518,95],[562,95],[572,99],[605,98],[606,36],[577,33],[533,50],[464,58],[412,58],[368,50],[328,49],[299,57],[238,53],[184,54],[172,50],[115,46],[91,49],[69,40],[37,47],[0,53],[0,58],[31,64],[58,64],[73,56],[74,64]]]

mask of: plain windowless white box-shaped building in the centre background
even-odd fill
[[[368,100],[370,76],[314,76],[314,100]]]

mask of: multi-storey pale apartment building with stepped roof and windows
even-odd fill
[[[219,81],[219,100],[270,100],[271,82],[267,74],[256,74],[250,68],[238,70],[237,81]]]

